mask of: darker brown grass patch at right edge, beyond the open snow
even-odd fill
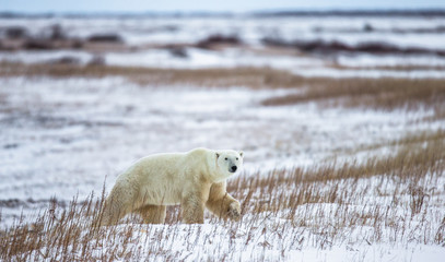
[[[411,110],[433,108],[442,110],[445,100],[444,80],[415,79],[340,79],[312,80],[300,94],[272,97],[266,106],[319,102],[323,105]]]

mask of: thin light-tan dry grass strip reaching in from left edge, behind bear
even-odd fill
[[[54,76],[54,78],[104,78],[124,76],[138,84],[150,85],[196,85],[208,87],[247,86],[294,87],[302,78],[285,71],[268,68],[236,69],[153,69],[132,67],[98,67],[70,64],[22,64],[0,63],[0,76]]]

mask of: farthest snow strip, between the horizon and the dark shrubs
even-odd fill
[[[178,16],[178,17],[40,17],[0,19],[0,25],[24,26],[32,35],[48,34],[58,24],[69,36],[118,33],[134,46],[147,44],[192,44],[213,34],[237,35],[259,45],[264,37],[294,40],[340,40],[348,44],[385,41],[403,47],[443,48],[445,17],[432,16]],[[372,29],[370,29],[372,28]],[[418,32],[418,31],[429,32]],[[434,32],[436,31],[437,32]]]

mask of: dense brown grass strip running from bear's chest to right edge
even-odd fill
[[[277,184],[313,183],[328,180],[361,179],[378,175],[398,177],[398,179],[419,179],[426,172],[441,172],[445,169],[445,132],[408,134],[388,145],[401,145],[397,153],[388,157],[372,157],[358,164],[354,159],[344,164],[336,162],[319,167],[276,170],[268,177],[255,180],[239,178],[230,184],[231,191],[261,188],[271,191]],[[383,145],[378,145],[383,146]],[[257,176],[255,176],[257,177]],[[259,176],[260,177],[260,176]]]

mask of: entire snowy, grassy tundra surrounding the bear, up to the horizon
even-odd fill
[[[444,17],[1,19],[0,33],[52,24],[134,48],[104,51],[99,66],[86,66],[87,48],[0,51],[0,260],[443,260],[445,57],[261,39],[442,50]],[[244,44],[192,46],[214,34]],[[63,57],[79,63],[48,62]],[[241,222],[184,225],[172,206],[164,225],[92,229],[95,198],[134,160],[199,146],[245,152],[227,188]]]

